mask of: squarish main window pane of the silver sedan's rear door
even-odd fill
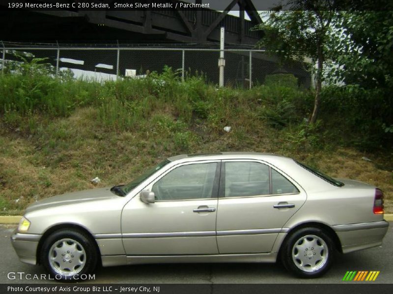
[[[225,197],[269,194],[268,166],[258,162],[225,162]]]

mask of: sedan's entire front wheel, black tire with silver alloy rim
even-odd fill
[[[97,265],[94,241],[79,230],[62,229],[46,238],[41,247],[41,264],[56,280],[78,280]]]

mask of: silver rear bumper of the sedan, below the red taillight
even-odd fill
[[[342,252],[362,250],[382,245],[389,222],[373,221],[333,226],[340,239]]]

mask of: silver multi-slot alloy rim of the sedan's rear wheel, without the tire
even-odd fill
[[[315,235],[299,238],[292,248],[293,262],[300,270],[307,272],[321,269],[327,263],[328,255],[328,245]]]

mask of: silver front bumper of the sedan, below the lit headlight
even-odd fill
[[[42,235],[22,234],[17,229],[11,236],[11,244],[19,259],[30,265],[37,264],[37,246]]]

